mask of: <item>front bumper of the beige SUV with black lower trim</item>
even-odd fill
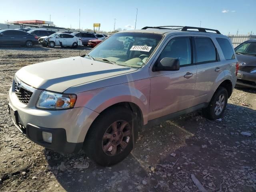
[[[23,104],[14,91],[15,82],[9,91],[8,104],[14,125],[24,136],[46,148],[62,153],[78,152],[82,148],[84,138],[98,113],[77,107],[68,110],[37,109],[37,98],[42,90],[34,89],[28,102]],[[52,133],[52,143],[44,142],[42,132]]]

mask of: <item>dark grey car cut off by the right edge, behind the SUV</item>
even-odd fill
[[[236,84],[256,88],[256,39],[251,39],[235,48],[239,69]]]

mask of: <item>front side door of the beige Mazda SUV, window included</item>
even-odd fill
[[[150,70],[149,120],[178,112],[192,106],[196,84],[190,36],[172,36],[158,53],[155,64],[162,58],[178,58],[177,71]],[[154,66],[153,66],[154,68]]]

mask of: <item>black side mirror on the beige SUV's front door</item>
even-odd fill
[[[180,70],[180,61],[176,58],[162,58],[154,67],[153,71],[178,71]]]

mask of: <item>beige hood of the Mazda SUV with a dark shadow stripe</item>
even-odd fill
[[[16,72],[22,82],[38,89],[64,92],[66,89],[102,78],[138,70],[80,56],[25,66]]]

